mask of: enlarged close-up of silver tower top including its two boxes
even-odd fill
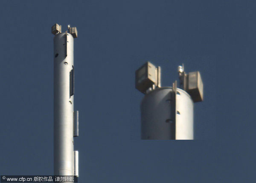
[[[193,140],[194,102],[203,101],[203,82],[199,71],[185,73],[178,67],[177,81],[172,87],[161,87],[161,69],[146,62],[136,70],[135,85],[144,93],[141,101],[141,139]]]

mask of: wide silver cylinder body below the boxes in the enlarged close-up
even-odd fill
[[[175,110],[172,87],[157,88],[144,96],[140,105],[141,139],[171,140],[175,136],[176,139],[193,139],[192,99],[179,88],[176,99]]]

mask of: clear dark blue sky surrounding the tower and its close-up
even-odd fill
[[[0,1],[0,175],[53,174],[55,23],[76,26],[80,183],[255,181],[256,2]],[[201,71],[196,141],[141,141],[135,70]]]

